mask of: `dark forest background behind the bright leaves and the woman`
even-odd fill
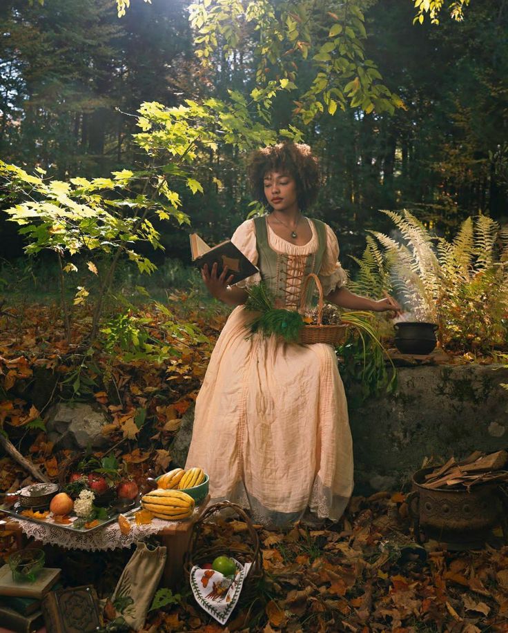
[[[1,158],[60,179],[107,175],[141,164],[131,141],[141,102],[250,92],[248,42],[231,62],[217,52],[204,70],[187,8],[186,0],[133,2],[119,19],[110,0],[3,0]],[[404,107],[393,115],[338,110],[302,128],[324,177],[312,215],[335,228],[344,261],[361,253],[367,229],[390,230],[380,209],[407,208],[445,236],[469,215],[507,218],[507,3],[473,1],[464,21],[443,14],[439,26],[413,26],[413,15],[402,0],[367,11],[367,55]],[[274,128],[289,124],[293,107],[289,93],[277,97]],[[191,230],[210,242],[250,211],[244,159],[224,145],[211,157],[205,195],[181,192]],[[166,251],[155,261],[188,262],[189,228],[160,228]],[[1,218],[1,257],[14,260],[22,249],[17,228]]]

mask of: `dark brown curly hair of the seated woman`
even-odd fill
[[[320,188],[317,158],[311,148],[303,143],[284,142],[256,150],[248,162],[247,175],[255,199],[268,207],[264,195],[264,177],[267,173],[287,173],[296,181],[300,211],[309,208]]]

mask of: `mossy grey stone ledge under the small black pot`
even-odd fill
[[[400,489],[425,457],[463,457],[508,446],[508,382],[503,365],[398,368],[391,396],[350,411],[355,494]]]

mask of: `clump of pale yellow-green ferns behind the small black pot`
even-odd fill
[[[490,353],[506,345],[508,226],[501,229],[483,215],[467,218],[447,242],[431,235],[409,211],[384,213],[400,238],[371,234],[384,248],[384,270],[393,288],[416,318],[438,322],[448,349]]]

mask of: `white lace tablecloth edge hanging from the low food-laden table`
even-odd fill
[[[197,509],[194,511],[197,512]],[[136,525],[133,516],[127,516],[130,522],[130,532],[121,534],[117,521],[108,523],[104,527],[98,527],[92,532],[79,532],[77,530],[63,529],[50,523],[34,523],[26,519],[10,517],[10,520],[17,521],[23,532],[27,536],[33,536],[37,541],[44,544],[59,545],[66,549],[88,549],[92,552],[99,549],[117,549],[117,547],[130,547],[137,541],[142,541],[151,534],[157,534],[164,527],[177,525],[181,521],[166,521],[160,518],[153,518],[151,523],[146,525]]]

